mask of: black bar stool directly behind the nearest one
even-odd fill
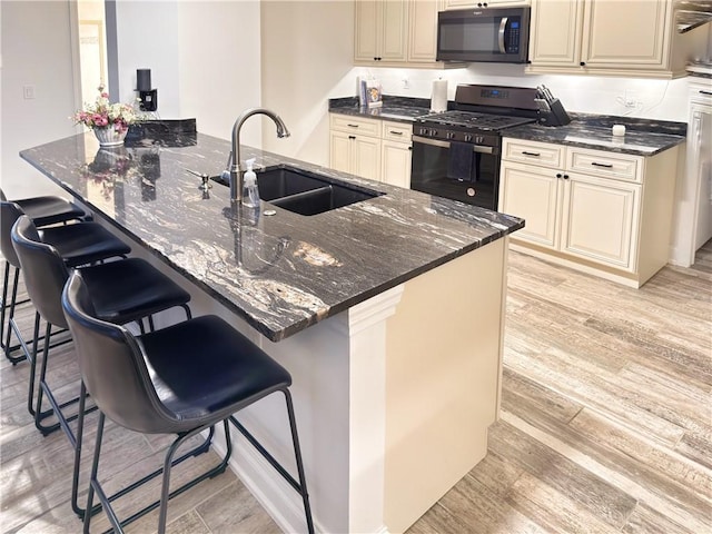
[[[58,250],[48,244],[41,243],[32,221],[22,216],[11,230],[12,243],[22,267],[22,274],[30,299],[34,304],[39,316],[47,322],[46,342],[42,352],[39,387],[37,400],[34,397],[34,380],[37,373],[37,350],[32,352],[30,359],[30,384],[28,390],[28,411],[34,415],[37,428],[47,435],[57,428],[62,428],[69,443],[75,447],[76,462],[72,478],[72,508],[78,515],[85,511],[77,503],[79,463],[81,458],[81,439],[83,432],[85,394],[69,402],[59,403],[52,394],[47,380],[48,353],[50,348],[52,326],[67,328],[67,322],[61,306],[61,294],[69,269]],[[83,279],[91,290],[92,304],[98,317],[118,324],[137,322],[144,332],[142,319],[148,317],[152,328],[151,316],[176,306],[182,307],[186,317],[190,318],[188,301],[190,295],[162,275],[158,269],[139,258],[121,259],[96,266],[80,267]],[[36,323],[34,337],[39,334],[39,322]],[[43,411],[43,396],[51,409]],[[70,404],[79,402],[77,415],[67,417],[62,409]],[[42,421],[55,414],[58,423],[51,426],[42,424]],[[77,435],[69,427],[69,422],[78,418]],[[211,437],[211,436],[210,436]],[[198,448],[207,451],[209,441]],[[197,454],[195,451],[190,454]],[[158,473],[157,473],[158,474]],[[156,474],[154,475],[156,476]]]

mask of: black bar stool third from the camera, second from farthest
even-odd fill
[[[10,266],[14,267],[14,277],[10,301],[7,304],[7,333],[4,335],[4,355],[12,363],[17,364],[30,357],[30,349],[14,322],[16,306],[20,303],[17,300],[18,281],[20,275],[20,263],[12,247],[10,231],[14,222],[24,215],[20,206],[16,202],[0,202],[0,249],[4,257],[6,279],[9,275]],[[31,217],[30,217],[31,218]],[[48,220],[47,218],[44,220]],[[77,265],[100,261],[113,256],[123,257],[131,249],[120,239],[113,236],[109,230],[96,222],[78,222],[73,225],[57,226],[43,228],[39,230],[41,239],[55,245],[60,251],[66,263],[73,267]],[[3,290],[2,306],[2,324],[6,323],[6,299],[7,284]],[[39,320],[36,315],[36,322]],[[11,335],[14,334],[19,345],[12,347],[10,345]],[[11,350],[22,348],[22,355],[12,356]]]

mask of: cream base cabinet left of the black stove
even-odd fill
[[[413,126],[330,113],[329,166],[363,178],[411,187]]]

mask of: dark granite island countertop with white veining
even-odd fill
[[[100,150],[88,132],[20,156],[274,342],[524,226],[243,146],[258,165],[290,164],[385,192],[310,217],[275,207],[275,216],[255,218],[230,207],[228,188],[204,194],[185,171],[219,174],[229,142],[188,137]]]

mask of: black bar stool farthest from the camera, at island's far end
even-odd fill
[[[6,197],[4,192],[0,188],[0,201],[7,202],[9,201]],[[12,204],[17,205],[19,210],[30,217],[36,226],[48,226],[48,225],[57,225],[57,224],[67,224],[72,220],[90,220],[91,215],[85,211],[82,208],[77,206],[69,200],[65,200],[60,197],[55,196],[41,196],[41,197],[32,197],[32,198],[22,198],[17,200],[11,200]],[[0,231],[3,233],[3,240],[10,240],[10,228],[12,225],[7,228],[3,226]],[[10,246],[10,248],[12,248]],[[4,256],[4,250],[3,250]],[[8,261],[7,256],[4,256],[4,275],[2,283],[2,308],[0,308],[0,346],[6,353],[6,356],[12,362],[17,364],[18,362],[24,359],[24,356],[10,356],[13,350],[20,348],[20,345],[14,346],[6,346],[4,344],[4,328],[6,328],[6,310],[10,308],[10,304],[8,304],[8,290],[9,290],[9,281],[10,281],[10,267],[14,267]],[[18,284],[19,271],[14,268],[14,277],[12,284],[12,291],[16,291]],[[17,305],[21,305],[28,303],[28,299],[16,301]],[[9,328],[9,326],[8,326]]]

